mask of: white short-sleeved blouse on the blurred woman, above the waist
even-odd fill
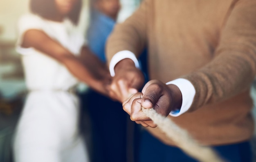
[[[27,88],[29,90],[65,91],[74,87],[78,80],[63,64],[34,48],[21,47],[23,35],[29,29],[44,31],[74,55],[79,55],[85,44],[83,31],[68,19],[63,22],[54,22],[34,14],[24,15],[18,22],[16,50],[22,54]]]

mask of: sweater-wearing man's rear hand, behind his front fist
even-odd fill
[[[130,59],[124,59],[115,66],[115,77],[110,85],[110,97],[124,102],[130,95],[137,93],[144,83],[144,75]]]

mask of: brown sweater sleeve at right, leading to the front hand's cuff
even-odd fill
[[[189,111],[221,102],[249,89],[256,75],[256,1],[240,0],[222,28],[215,58],[183,76],[195,87]]]

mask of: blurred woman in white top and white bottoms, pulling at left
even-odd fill
[[[110,74],[85,46],[77,24],[81,0],[31,0],[18,22],[29,93],[14,138],[16,162],[88,162],[79,134],[81,81],[108,95]]]

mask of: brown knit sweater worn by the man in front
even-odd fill
[[[148,48],[150,79],[185,78],[196,93],[187,113],[171,117],[202,144],[253,134],[249,88],[256,75],[256,0],[144,0],[107,44],[107,58]],[[171,140],[149,128],[166,144]]]

